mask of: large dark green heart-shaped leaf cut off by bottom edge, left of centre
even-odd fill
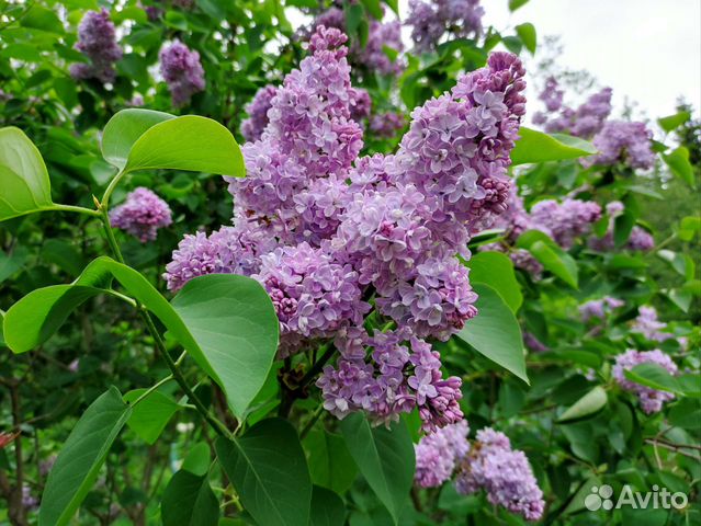
[[[240,438],[217,438],[215,449],[244,507],[258,524],[307,526],[312,480],[297,432],[289,422],[263,420]]]

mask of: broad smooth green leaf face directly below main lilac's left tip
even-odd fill
[[[202,350],[231,410],[242,416],[278,352],[279,323],[268,293],[255,279],[214,274],[185,284],[172,308]]]

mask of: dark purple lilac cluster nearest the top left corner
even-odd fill
[[[100,82],[114,82],[116,71],[114,62],[122,58],[122,49],[116,43],[114,24],[110,13],[88,11],[78,26],[76,49],[90,59],[90,64],[74,64],[70,76],[74,79],[98,79]]]

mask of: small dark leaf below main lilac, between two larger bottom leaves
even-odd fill
[[[343,494],[355,480],[358,468],[340,435],[313,430],[303,442],[312,482]]]

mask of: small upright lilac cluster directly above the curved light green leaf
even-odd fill
[[[193,94],[204,90],[204,69],[197,52],[174,42],[162,48],[159,57],[160,75],[168,83],[174,106],[186,104]]]

